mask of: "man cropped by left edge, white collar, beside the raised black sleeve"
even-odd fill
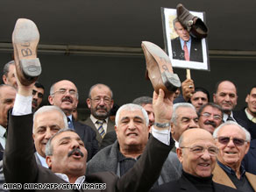
[[[6,143],[8,110],[13,107],[16,92],[17,90],[10,85],[0,85],[0,160],[3,160]]]

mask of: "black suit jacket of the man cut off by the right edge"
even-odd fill
[[[251,139],[256,139],[256,124],[246,116],[245,109],[233,111],[233,116],[237,121],[243,121],[241,125],[251,133]]]

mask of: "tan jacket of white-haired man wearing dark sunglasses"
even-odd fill
[[[219,184],[229,186],[231,188],[236,188],[234,183],[231,181],[230,177],[225,173],[222,167],[219,167],[217,163],[212,174],[213,174],[213,178],[212,178],[213,181]],[[250,184],[252,185],[252,188],[256,191],[256,175],[246,172],[245,176],[247,180],[250,182]]]

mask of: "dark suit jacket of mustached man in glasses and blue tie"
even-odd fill
[[[96,140],[96,132],[89,125],[75,121],[74,118],[72,122],[75,128],[75,132],[82,139],[84,146],[87,149],[87,160],[89,161],[98,152],[99,149],[98,141]]]

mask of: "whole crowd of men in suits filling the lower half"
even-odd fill
[[[217,82],[210,103],[208,90],[187,79],[175,99],[163,89],[132,98],[113,122],[113,92],[97,83],[86,101],[90,116],[80,122],[75,83],[54,82],[50,105],[41,106],[45,88],[20,81],[17,57],[0,85],[1,190],[4,183],[75,183],[68,191],[91,191],[96,185],[81,184],[97,183],[96,191],[109,192],[256,191],[256,86],[236,111],[233,82]]]

